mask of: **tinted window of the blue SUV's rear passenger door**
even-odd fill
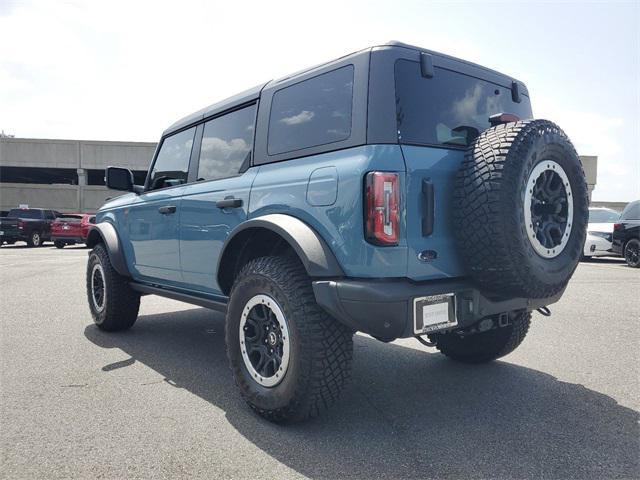
[[[251,161],[256,106],[236,110],[204,124],[198,181],[237,175]]]

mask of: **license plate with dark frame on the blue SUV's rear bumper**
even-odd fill
[[[447,330],[457,325],[453,293],[413,299],[413,333],[416,335]]]

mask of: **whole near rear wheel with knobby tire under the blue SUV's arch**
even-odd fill
[[[269,330],[263,319],[277,322]],[[277,344],[268,333],[276,331]],[[272,340],[281,361],[276,358],[267,370],[270,360],[261,359],[270,357],[262,343]],[[293,256],[261,257],[242,268],[231,289],[226,345],[242,397],[272,422],[319,415],[351,375],[353,331],[316,303],[311,280]]]

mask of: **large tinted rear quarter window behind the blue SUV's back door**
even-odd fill
[[[353,65],[278,90],[269,117],[269,155],[346,140],[352,103]]]

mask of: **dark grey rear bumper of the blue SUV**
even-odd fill
[[[412,337],[413,299],[455,293],[460,328],[481,318],[514,310],[534,310],[557,302],[549,298],[489,299],[466,280],[412,282],[407,279],[341,279],[313,282],[316,301],[341,323],[384,339]]]

